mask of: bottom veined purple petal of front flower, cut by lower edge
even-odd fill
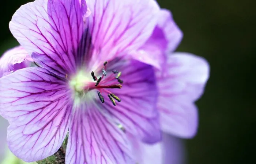
[[[131,145],[123,131],[95,108],[84,104],[76,109],[69,128],[68,164],[134,164]]]

